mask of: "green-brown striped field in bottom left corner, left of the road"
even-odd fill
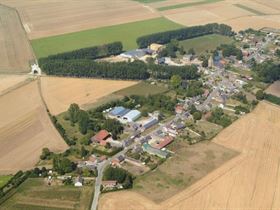
[[[26,180],[5,203],[2,210],[86,210],[90,206],[92,186],[48,186],[44,179]]]

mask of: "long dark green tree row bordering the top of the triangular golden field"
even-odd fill
[[[97,77],[111,79],[146,80],[170,79],[172,75],[180,75],[182,79],[199,77],[196,66],[161,66],[146,64],[142,61],[133,62],[95,62],[89,59],[78,60],[45,60],[41,68],[48,75],[71,77]]]

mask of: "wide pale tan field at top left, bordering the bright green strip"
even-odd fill
[[[131,0],[0,0],[15,7],[30,39],[159,17]]]

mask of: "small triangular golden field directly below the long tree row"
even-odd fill
[[[72,103],[80,106],[92,104],[102,97],[136,83],[101,79],[41,78],[43,97],[53,115],[65,112]]]

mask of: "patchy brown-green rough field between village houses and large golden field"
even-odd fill
[[[189,146],[186,140],[177,139],[168,149],[175,154],[156,170],[137,177],[133,191],[162,202],[237,154],[208,141]]]

